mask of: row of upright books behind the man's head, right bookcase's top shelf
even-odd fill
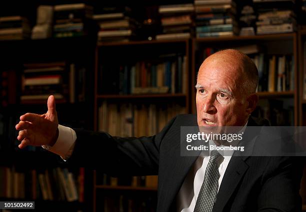
[[[282,92],[294,90],[294,56],[289,55],[270,55],[259,53],[260,47],[257,45],[246,45],[233,47],[247,54],[255,63],[258,70],[258,92]],[[199,60],[202,61],[213,54],[216,49],[205,48]]]

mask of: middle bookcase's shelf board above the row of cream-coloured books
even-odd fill
[[[97,95],[98,99],[137,99],[137,98],[170,98],[170,97],[186,97],[185,94],[139,94],[139,95]]]

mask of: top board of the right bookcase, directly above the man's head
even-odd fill
[[[233,40],[283,40],[283,39],[292,39],[294,33],[282,33],[282,34],[262,34],[262,35],[248,35],[248,36],[223,36],[223,37],[203,37],[203,38],[194,38],[197,42],[206,42],[206,41],[233,41]]]

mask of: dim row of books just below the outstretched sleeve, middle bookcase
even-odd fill
[[[157,176],[134,176],[116,178],[110,177],[106,174],[97,172],[96,185],[105,186],[130,186],[130,187],[146,187],[157,189]]]

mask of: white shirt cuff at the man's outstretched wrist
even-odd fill
[[[58,138],[55,144],[51,147],[42,145],[42,148],[59,155],[63,160],[67,160],[74,149],[76,133],[69,127],[58,125]]]

